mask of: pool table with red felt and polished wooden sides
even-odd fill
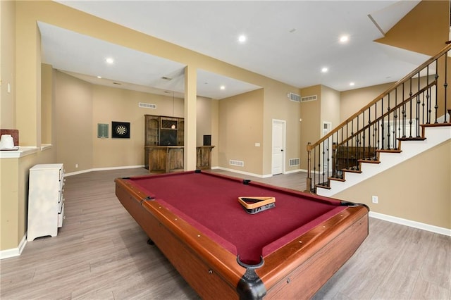
[[[203,299],[307,299],[368,235],[367,206],[206,171],[116,178],[125,209]],[[239,196],[273,196],[247,213]]]

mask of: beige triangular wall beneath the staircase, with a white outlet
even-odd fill
[[[335,194],[371,211],[451,229],[451,140]],[[371,196],[378,196],[378,204]]]

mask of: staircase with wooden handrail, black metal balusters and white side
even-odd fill
[[[451,139],[449,54],[451,44],[309,143],[306,190],[333,196]]]

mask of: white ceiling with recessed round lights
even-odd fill
[[[428,58],[373,42],[419,1],[58,2],[295,87],[343,91],[393,82]],[[45,23],[39,30],[43,61],[56,69],[97,84],[183,94],[183,64]],[[244,44],[237,42],[241,34]],[[340,35],[350,41],[341,44]],[[106,56],[116,62],[106,65]],[[321,73],[325,66],[328,73]],[[197,70],[200,96],[222,99],[257,88]]]

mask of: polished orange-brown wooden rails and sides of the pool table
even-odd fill
[[[127,180],[115,181],[121,204],[203,299],[307,299],[368,235],[367,208],[349,207],[264,257],[253,282],[243,277],[246,269],[235,254]]]

